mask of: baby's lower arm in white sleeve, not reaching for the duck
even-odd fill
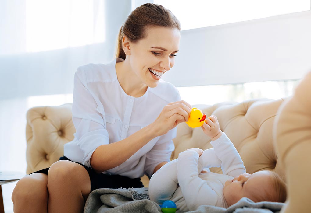
[[[179,153],[177,178],[179,187],[190,211],[201,205],[215,206],[218,195],[205,180],[198,177],[199,154],[193,150]]]

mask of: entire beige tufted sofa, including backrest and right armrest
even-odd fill
[[[273,170],[288,184],[288,205],[282,212],[311,212],[311,72],[286,100],[256,99],[241,103],[196,105],[207,116],[216,115],[239,151],[246,171]],[[27,112],[27,174],[47,168],[63,156],[63,145],[73,139],[72,104],[40,106]],[[281,107],[280,107],[281,106]],[[188,148],[210,148],[211,139],[200,128],[181,123],[171,159]],[[275,143],[273,143],[275,142]],[[220,168],[211,171],[220,173]],[[148,178],[142,178],[148,187]]]

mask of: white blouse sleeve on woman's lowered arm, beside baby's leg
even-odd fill
[[[173,138],[176,137],[177,128],[169,130],[165,135],[160,136],[157,143],[146,153],[145,174],[151,178],[153,170],[161,162],[169,161],[175,149]]]

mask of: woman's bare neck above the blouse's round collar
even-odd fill
[[[125,60],[116,63],[115,68],[119,84],[126,94],[141,97],[146,93],[148,86],[137,78],[128,62]]]

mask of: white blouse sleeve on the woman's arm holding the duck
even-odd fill
[[[98,104],[87,88],[85,72],[79,67],[74,76],[72,121],[76,128],[77,145],[84,156],[82,163],[91,167],[90,158],[97,147],[109,144],[109,135]]]

